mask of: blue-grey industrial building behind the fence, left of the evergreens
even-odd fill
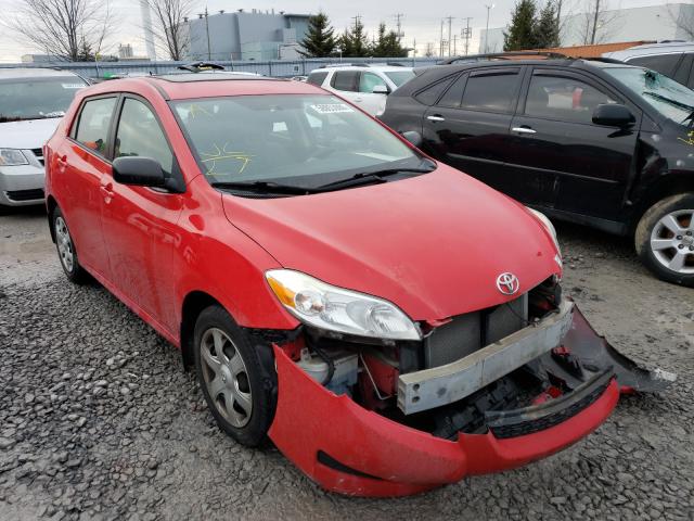
[[[188,21],[192,60],[295,60],[308,14],[284,11],[201,13]]]

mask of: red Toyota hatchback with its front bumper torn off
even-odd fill
[[[517,467],[668,380],[562,296],[544,216],[312,85],[103,82],[44,152],[67,277],[178,346],[221,429],[327,490]]]

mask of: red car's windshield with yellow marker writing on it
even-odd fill
[[[235,96],[171,102],[210,182],[301,179],[414,166],[421,157],[333,96]],[[344,175],[342,176],[344,177]]]

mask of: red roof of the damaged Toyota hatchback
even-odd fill
[[[176,76],[176,78],[171,79],[169,76]],[[114,79],[88,87],[81,90],[80,94],[87,97],[117,92],[152,93],[153,89],[156,89],[159,96],[166,100],[254,94],[330,94],[323,89],[304,81],[219,73],[189,73]]]

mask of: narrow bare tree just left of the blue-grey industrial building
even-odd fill
[[[188,18],[194,0],[145,0],[153,13],[152,36],[171,60],[183,60],[190,49]]]

